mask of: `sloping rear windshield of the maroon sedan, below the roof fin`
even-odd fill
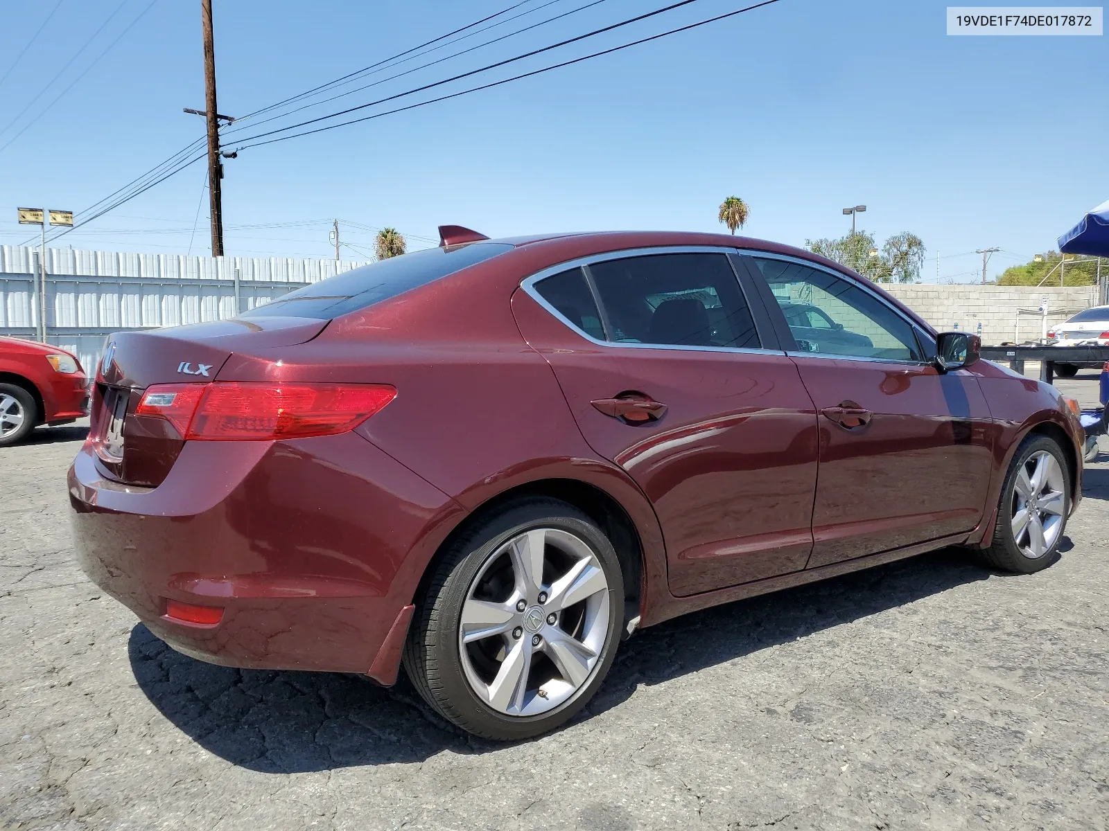
[[[240,317],[314,317],[330,320],[511,249],[512,246],[505,243],[472,243],[401,254],[289,291]]]

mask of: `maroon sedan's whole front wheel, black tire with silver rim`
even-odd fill
[[[1062,449],[1046,435],[1017,448],[1001,485],[994,537],[983,554],[994,567],[1034,574],[1059,558],[1070,512],[1070,471]]]

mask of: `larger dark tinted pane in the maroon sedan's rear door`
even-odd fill
[[[759,348],[751,311],[723,254],[655,254],[589,265],[622,343]]]

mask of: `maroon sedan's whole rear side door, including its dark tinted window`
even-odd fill
[[[586,441],[653,504],[674,594],[805,567],[816,413],[726,253],[594,257],[526,280],[512,306]]]

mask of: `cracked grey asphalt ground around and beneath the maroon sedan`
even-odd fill
[[[3,829],[1109,827],[1107,462],[1039,575],[944,551],[673,620],[496,745],[404,681],[154,638],[74,565],[83,432],[0,451]]]

